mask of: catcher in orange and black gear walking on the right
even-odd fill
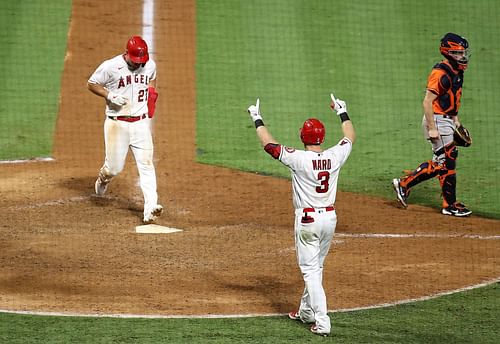
[[[441,213],[451,216],[469,216],[472,212],[456,199],[457,146],[468,147],[472,140],[469,131],[458,119],[464,71],[469,62],[469,43],[464,37],[447,33],[441,39],[440,52],[445,57],[432,69],[427,81],[423,107],[424,136],[432,144],[432,160],[425,161],[406,176],[393,179],[399,203],[408,207],[410,189],[437,177],[441,185],[443,204]]]

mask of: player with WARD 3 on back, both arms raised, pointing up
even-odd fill
[[[264,150],[287,166],[292,175],[295,249],[305,288],[299,309],[288,316],[312,323],[311,331],[322,336],[331,331],[322,283],[323,264],[337,224],[335,197],[340,168],[349,157],[355,139],[346,103],[335,99],[333,94],[331,98],[331,107],[342,121],[344,137],[337,145],[325,150],[321,147],[325,127],[319,120],[310,118],[304,122],[300,129],[304,150],[295,150],[279,144],[271,136],[262,120],[259,99],[248,108]]]

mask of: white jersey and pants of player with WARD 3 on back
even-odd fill
[[[351,149],[352,142],[345,137],[319,153],[272,143],[265,147],[266,152],[279,159],[292,173],[295,247],[305,282],[299,315],[304,321],[314,322],[321,333],[331,330],[322,285],[323,264],[337,225],[335,208],[329,207],[335,204],[340,168]]]

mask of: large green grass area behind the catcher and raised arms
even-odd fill
[[[274,137],[298,148],[298,128],[318,117],[333,145],[341,133],[328,107],[334,91],[358,133],[339,188],[390,199],[391,179],[431,158],[421,104],[439,39],[466,36],[473,55],[460,117],[473,145],[460,151],[458,198],[500,218],[495,1],[204,0],[197,25],[198,161],[288,177],[260,149],[246,108],[260,97]],[[410,203],[439,207],[437,179],[412,190]]]

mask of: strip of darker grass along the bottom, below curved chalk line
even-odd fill
[[[500,284],[425,302],[330,314],[332,336],[287,317],[116,319],[0,313],[2,343],[498,343]]]

